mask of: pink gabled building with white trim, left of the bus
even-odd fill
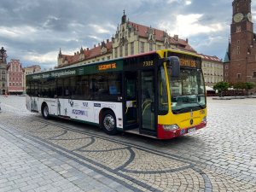
[[[9,94],[22,94],[23,87],[23,69],[20,60],[12,59],[7,65],[7,84]]]

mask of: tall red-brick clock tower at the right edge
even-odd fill
[[[253,33],[251,0],[234,0],[230,46],[224,59],[224,80],[256,83],[256,35]]]

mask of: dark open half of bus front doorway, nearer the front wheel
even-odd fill
[[[138,128],[137,71],[125,72],[124,122],[125,130]]]

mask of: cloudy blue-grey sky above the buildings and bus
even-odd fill
[[[231,0],[1,0],[0,48],[23,67],[55,67],[60,48],[73,55],[111,38],[124,9],[135,23],[189,38],[198,53],[224,58]],[[252,14],[255,22],[255,2]]]

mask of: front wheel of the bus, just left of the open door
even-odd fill
[[[107,110],[102,113],[101,128],[110,136],[117,134],[116,118],[113,111]]]

